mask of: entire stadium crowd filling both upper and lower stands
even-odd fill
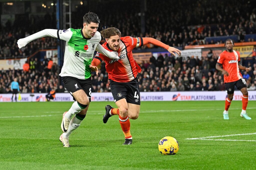
[[[125,1],[126,6],[134,7],[132,9],[129,8],[128,10],[125,6],[115,9],[118,15],[105,15],[104,12],[106,5],[114,9],[115,1],[95,3],[101,3],[90,8],[101,19],[99,31],[104,26],[116,27],[122,32],[122,36],[153,37],[170,46],[184,47],[190,44],[202,44],[205,42],[198,40],[203,40],[205,37],[228,35],[239,35],[239,42],[243,42],[245,41],[244,35],[256,33],[256,8],[252,3],[244,0],[233,0],[232,4],[228,1],[213,0],[211,5],[208,1],[191,3],[189,0],[175,0],[171,4],[169,1],[157,2],[158,6],[165,9],[179,9],[172,11],[155,8],[155,1],[148,0],[145,11],[145,33],[141,31],[142,23],[140,20],[143,14],[141,14],[140,5],[134,6],[134,1]],[[108,4],[104,5],[104,3]],[[78,7],[77,12],[72,12],[72,28],[81,28],[81,18],[85,13],[84,8],[81,6]],[[26,22],[21,21],[22,19],[17,18],[13,23],[19,27],[12,27],[11,23],[6,23],[5,27],[1,27],[0,59],[28,57],[39,49],[57,47],[57,39],[51,37],[34,40],[22,49],[18,49],[16,44],[19,38],[29,36],[42,29],[56,29],[55,14],[46,14],[43,18],[30,15],[26,18]],[[27,24],[28,22],[29,24]],[[248,41],[254,41],[254,39]],[[142,48],[152,47],[147,45]],[[49,68],[47,59],[43,61],[35,59],[34,61],[35,67],[29,66],[27,71],[0,70],[0,94],[11,93],[10,83],[14,77],[18,78],[22,93],[49,93],[51,89],[56,89],[57,93],[67,92],[58,76],[60,66],[53,64]],[[140,90],[225,90],[223,75],[215,69],[216,62],[216,56],[201,59],[198,57],[174,58],[174,56],[162,55],[154,58],[152,56],[150,62],[140,64],[142,72],[137,76]],[[256,64],[249,63],[248,66],[251,67],[251,71],[248,74],[246,72],[241,73],[247,81],[248,89],[255,90]],[[110,91],[104,63],[99,69],[99,76],[92,74],[92,85],[92,91]]]

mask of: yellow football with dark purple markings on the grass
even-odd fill
[[[175,155],[179,150],[179,143],[175,138],[166,136],[160,140],[158,150],[163,155]]]

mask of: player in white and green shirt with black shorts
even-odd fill
[[[63,113],[60,141],[63,147],[70,147],[69,135],[77,129],[86,116],[91,101],[91,64],[94,51],[114,59],[116,52],[105,50],[99,42],[101,35],[97,31],[100,20],[96,14],[89,12],[83,17],[83,29],[53,30],[45,29],[26,38],[19,39],[19,48],[41,37],[51,36],[66,41],[64,63],[59,74],[62,82],[75,102],[69,111]],[[72,118],[72,115],[75,116]],[[72,118],[72,120],[71,120]]]

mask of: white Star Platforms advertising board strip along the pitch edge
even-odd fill
[[[45,95],[47,94],[21,94],[21,100],[18,102],[45,102]],[[227,93],[225,91],[141,92],[140,97],[141,101],[213,101],[226,100]],[[233,100],[242,100],[242,93],[235,91]],[[256,100],[256,91],[249,91],[249,100]],[[69,93],[56,93],[53,101],[73,101],[73,97]],[[92,93],[91,101],[114,101],[114,98],[111,93]],[[0,102],[12,102],[12,94],[0,94]]]

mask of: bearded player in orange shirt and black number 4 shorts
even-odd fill
[[[130,145],[132,144],[132,135],[129,118],[137,119],[140,113],[140,91],[137,74],[141,72],[140,66],[133,59],[132,49],[150,43],[165,48],[173,55],[175,55],[174,52],[179,55],[181,51],[154,38],[121,37],[121,32],[117,28],[108,28],[100,33],[106,40],[102,46],[109,51],[119,53],[119,59],[110,59],[104,54],[97,53],[92,60],[91,67],[98,66],[102,60],[105,61],[111,92],[118,106],[118,108],[112,108],[110,105],[105,107],[106,113],[103,116],[103,123],[106,123],[110,116],[119,115],[119,122],[125,136],[123,145]],[[92,70],[98,71],[94,68]]]

